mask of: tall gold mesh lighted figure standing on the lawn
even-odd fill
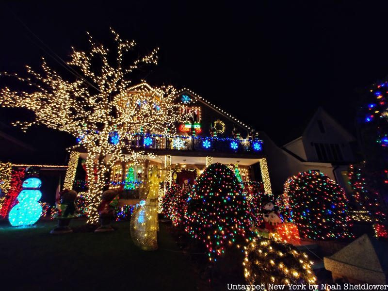
[[[160,188],[158,172],[158,167],[153,166],[149,178],[150,186],[147,198],[133,211],[130,220],[132,241],[145,251],[153,251],[158,248],[158,193]]]

